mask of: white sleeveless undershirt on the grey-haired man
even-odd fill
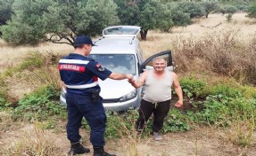
[[[173,79],[169,70],[164,70],[164,76],[156,79],[153,70],[149,71],[145,79],[145,93],[143,99],[148,102],[157,103],[171,99],[171,85]]]

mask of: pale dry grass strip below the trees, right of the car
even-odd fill
[[[177,38],[184,38],[185,40],[191,38],[196,42],[205,35],[221,35],[223,30],[239,30],[240,37],[246,41],[252,40],[252,35],[256,32],[256,20],[248,19],[245,15],[246,13],[235,13],[233,15],[234,20],[228,23],[222,14],[210,14],[208,19],[194,20],[193,25],[174,27],[170,34],[150,31],[147,41],[142,42],[145,58],[158,51],[173,50]],[[219,23],[221,24],[219,25]],[[217,25],[219,26],[215,27]]]

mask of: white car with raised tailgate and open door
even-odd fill
[[[113,26],[103,29],[103,37],[95,40],[95,44],[90,52],[89,58],[95,59],[105,68],[112,72],[121,74],[133,74],[139,77],[146,65],[152,65],[153,58],[162,57],[168,61],[168,66],[172,68],[171,51],[162,51],[146,60],[136,35],[140,32],[140,27],[136,26]],[[111,111],[126,111],[139,107],[143,95],[143,88],[135,89],[128,80],[101,81],[100,96],[103,98],[103,106]],[[61,103],[66,105],[65,90],[62,89]]]

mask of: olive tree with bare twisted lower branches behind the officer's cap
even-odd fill
[[[56,21],[56,27],[48,25],[49,40],[72,44],[76,35],[101,35],[104,27],[119,22],[116,7],[111,0],[80,0],[50,6],[44,20]]]

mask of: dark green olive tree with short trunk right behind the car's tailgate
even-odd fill
[[[120,24],[142,27],[140,35],[146,40],[148,30],[168,31],[173,26],[171,12],[158,0],[115,0],[118,4]]]

